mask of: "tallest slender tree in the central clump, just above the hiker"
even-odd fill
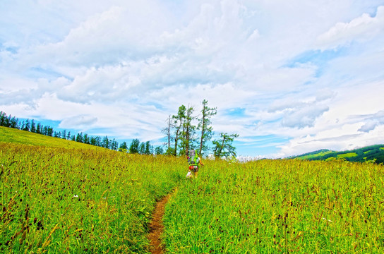
[[[210,123],[211,123],[210,118],[212,116],[215,116],[215,114],[217,113],[217,107],[214,107],[214,108],[208,107],[207,100],[204,99],[201,104],[203,104],[203,109],[201,110],[201,114],[203,114],[203,116],[201,117],[198,123],[198,129],[201,130],[200,148],[198,152],[199,155],[203,155],[204,152],[209,150],[209,147],[206,144],[214,134],[212,130],[212,126],[210,126]]]

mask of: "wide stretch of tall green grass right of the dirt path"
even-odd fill
[[[167,206],[169,253],[384,252],[382,166],[299,160],[208,165]]]

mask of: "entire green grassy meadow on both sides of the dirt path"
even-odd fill
[[[384,252],[382,165],[204,160],[187,180],[181,157],[28,134],[33,145],[0,138],[0,253],[148,253],[151,212],[170,192],[167,253]]]

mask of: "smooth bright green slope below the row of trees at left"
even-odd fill
[[[19,143],[25,145],[40,145],[46,147],[83,148],[90,150],[105,150],[106,148],[78,143],[71,140],[49,137],[47,135],[20,131],[16,128],[0,126],[0,142]]]

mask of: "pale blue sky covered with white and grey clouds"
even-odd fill
[[[383,144],[383,67],[384,0],[0,1],[0,110],[127,143],[206,99],[239,156]]]

